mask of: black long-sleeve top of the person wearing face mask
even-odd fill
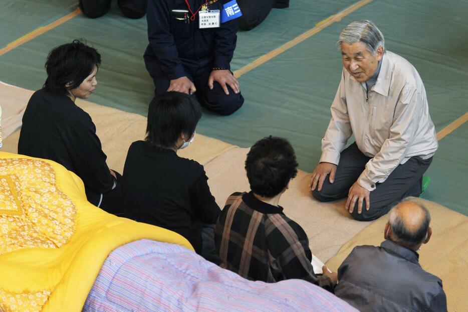
[[[136,141],[128,149],[122,177],[126,217],[184,236],[201,251],[202,224],[221,212],[211,195],[203,166],[172,149]]]

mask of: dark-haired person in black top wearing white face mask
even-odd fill
[[[221,212],[203,166],[177,155],[195,138],[201,117],[196,98],[166,92],[149,105],[147,136],[130,145],[122,177],[125,217],[184,236],[195,252],[219,262],[214,224]]]

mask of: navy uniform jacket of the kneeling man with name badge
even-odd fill
[[[222,11],[223,4],[229,1],[210,0],[208,9]],[[188,0],[192,12],[205,2]],[[185,0],[148,1],[146,62],[156,62],[170,80],[186,76],[185,70],[195,75],[197,69],[207,66],[230,69],[236,48],[237,20],[221,23],[219,28],[199,29],[198,14],[194,21],[186,23],[177,20],[172,10],[188,10]]]

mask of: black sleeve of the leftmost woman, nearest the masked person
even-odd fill
[[[85,186],[97,193],[112,190],[114,180],[91,118],[74,120],[63,129],[61,135],[77,175]]]

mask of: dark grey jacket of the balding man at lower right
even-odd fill
[[[353,249],[338,269],[335,294],[362,311],[446,311],[442,281],[418,254],[391,240]]]

